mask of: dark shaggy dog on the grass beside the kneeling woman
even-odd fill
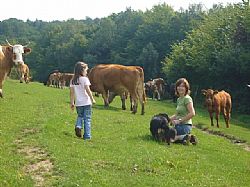
[[[170,118],[166,113],[156,114],[150,121],[150,132],[154,140],[166,142],[170,145],[171,140],[175,139],[177,132],[175,128],[169,126]]]

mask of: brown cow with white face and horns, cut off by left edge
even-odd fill
[[[23,64],[23,54],[31,52],[31,48],[28,48],[27,45],[11,45],[7,40],[6,42],[8,45],[0,45],[0,97],[3,97],[3,83],[10,74],[12,67]]]

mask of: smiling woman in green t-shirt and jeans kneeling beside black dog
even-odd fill
[[[181,141],[183,144],[197,143],[194,135],[191,135],[192,117],[195,115],[193,99],[190,97],[190,86],[185,78],[180,78],[175,83],[175,92],[178,96],[176,113],[170,117],[175,126],[177,136],[175,141]]]

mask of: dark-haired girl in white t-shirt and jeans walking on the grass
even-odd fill
[[[77,62],[74,76],[70,81],[70,105],[72,110],[76,106],[77,111],[75,134],[79,138],[82,137],[82,121],[84,121],[84,140],[91,139],[92,104],[95,104],[95,99],[89,88],[90,82],[87,77],[87,70],[87,64]]]

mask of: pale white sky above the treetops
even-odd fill
[[[207,9],[213,4],[239,3],[242,0],[3,0],[1,1],[0,21],[16,18],[23,21],[103,18],[112,13],[132,10],[150,10],[154,5],[166,3],[176,11],[187,9],[189,4],[202,3]],[[5,8],[3,8],[5,7]]]

